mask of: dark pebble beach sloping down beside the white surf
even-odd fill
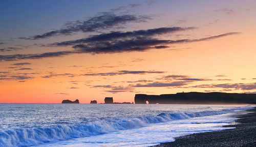
[[[256,146],[256,107],[235,114],[237,124],[223,127],[236,127],[221,131],[195,133],[175,137],[173,142],[160,143],[151,147],[187,146]]]

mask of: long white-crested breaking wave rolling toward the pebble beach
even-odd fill
[[[189,119],[197,116],[217,115],[243,109],[248,109],[248,107],[223,109],[219,111],[160,113],[156,116],[139,116],[120,122],[95,121],[88,124],[61,124],[47,127],[5,130],[0,131],[0,146],[31,146],[70,138],[87,137],[114,131],[134,129],[152,123]]]

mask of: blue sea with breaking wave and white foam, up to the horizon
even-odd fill
[[[0,104],[0,146],[150,146],[230,128],[251,105]]]

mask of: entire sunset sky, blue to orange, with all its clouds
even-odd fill
[[[0,103],[256,93],[256,1],[1,1]]]

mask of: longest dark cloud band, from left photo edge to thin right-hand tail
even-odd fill
[[[77,44],[73,46],[73,51],[57,51],[57,52],[46,52],[37,54],[13,54],[13,55],[0,55],[0,61],[15,61],[25,59],[38,59],[45,57],[57,57],[73,53],[115,53],[115,52],[130,52],[130,51],[146,51],[149,49],[155,49],[155,46],[163,44],[174,44],[174,43],[189,43],[206,41],[211,39],[217,39],[229,35],[239,34],[237,32],[225,33],[217,36],[211,36],[201,39],[183,39],[183,40],[158,40],[151,37],[136,37],[133,39],[121,39],[103,42],[91,42],[88,44]]]

